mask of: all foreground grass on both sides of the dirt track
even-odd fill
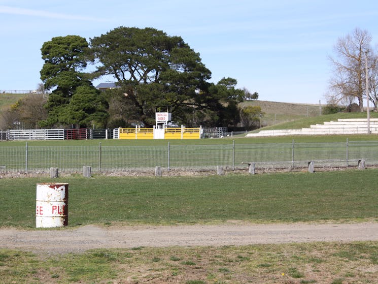
[[[378,220],[378,170],[200,177],[0,179],[0,226],[35,227],[36,184],[69,183],[68,228]],[[0,249],[2,283],[374,283],[378,242]]]

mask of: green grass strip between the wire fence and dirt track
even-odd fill
[[[0,179],[0,226],[35,227],[36,184],[70,184],[70,226],[375,219],[378,170]]]

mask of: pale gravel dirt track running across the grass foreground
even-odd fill
[[[378,241],[378,223],[0,229],[0,247],[48,254],[79,253],[92,248],[365,240]]]

